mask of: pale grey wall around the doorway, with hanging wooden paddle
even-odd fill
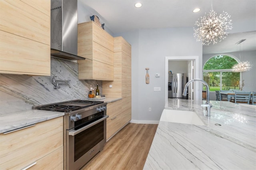
[[[202,44],[195,41],[193,33],[193,28],[165,28],[115,35],[132,45],[132,122],[158,123],[165,105],[166,56],[199,56],[202,65]],[[150,68],[150,84],[145,83],[146,67]],[[199,71],[202,73],[202,67]],[[156,73],[160,77],[155,77]]]

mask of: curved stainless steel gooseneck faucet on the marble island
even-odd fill
[[[191,82],[194,82],[194,81],[201,81],[202,83],[204,83],[206,85],[206,103],[205,105],[201,105],[203,107],[206,107],[206,116],[210,117],[211,114],[210,114],[210,108],[212,107],[212,104],[210,103],[210,95],[209,95],[209,86],[208,84],[202,80],[202,79],[192,79],[190,81],[188,81],[188,83],[186,83],[185,87],[184,87],[184,90],[183,90],[183,93],[182,95],[186,96],[187,93],[188,93],[188,84],[191,83]]]

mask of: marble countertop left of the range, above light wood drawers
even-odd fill
[[[0,133],[8,132],[18,128],[26,127],[56,117],[64,116],[63,112],[26,110],[13,113],[5,113],[0,116]]]

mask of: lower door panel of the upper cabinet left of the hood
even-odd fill
[[[50,45],[0,30],[0,48],[0,73],[50,75]]]

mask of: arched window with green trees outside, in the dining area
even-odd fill
[[[214,56],[204,64],[203,79],[210,91],[239,89],[240,73],[231,71],[235,64],[237,61],[228,55]]]

